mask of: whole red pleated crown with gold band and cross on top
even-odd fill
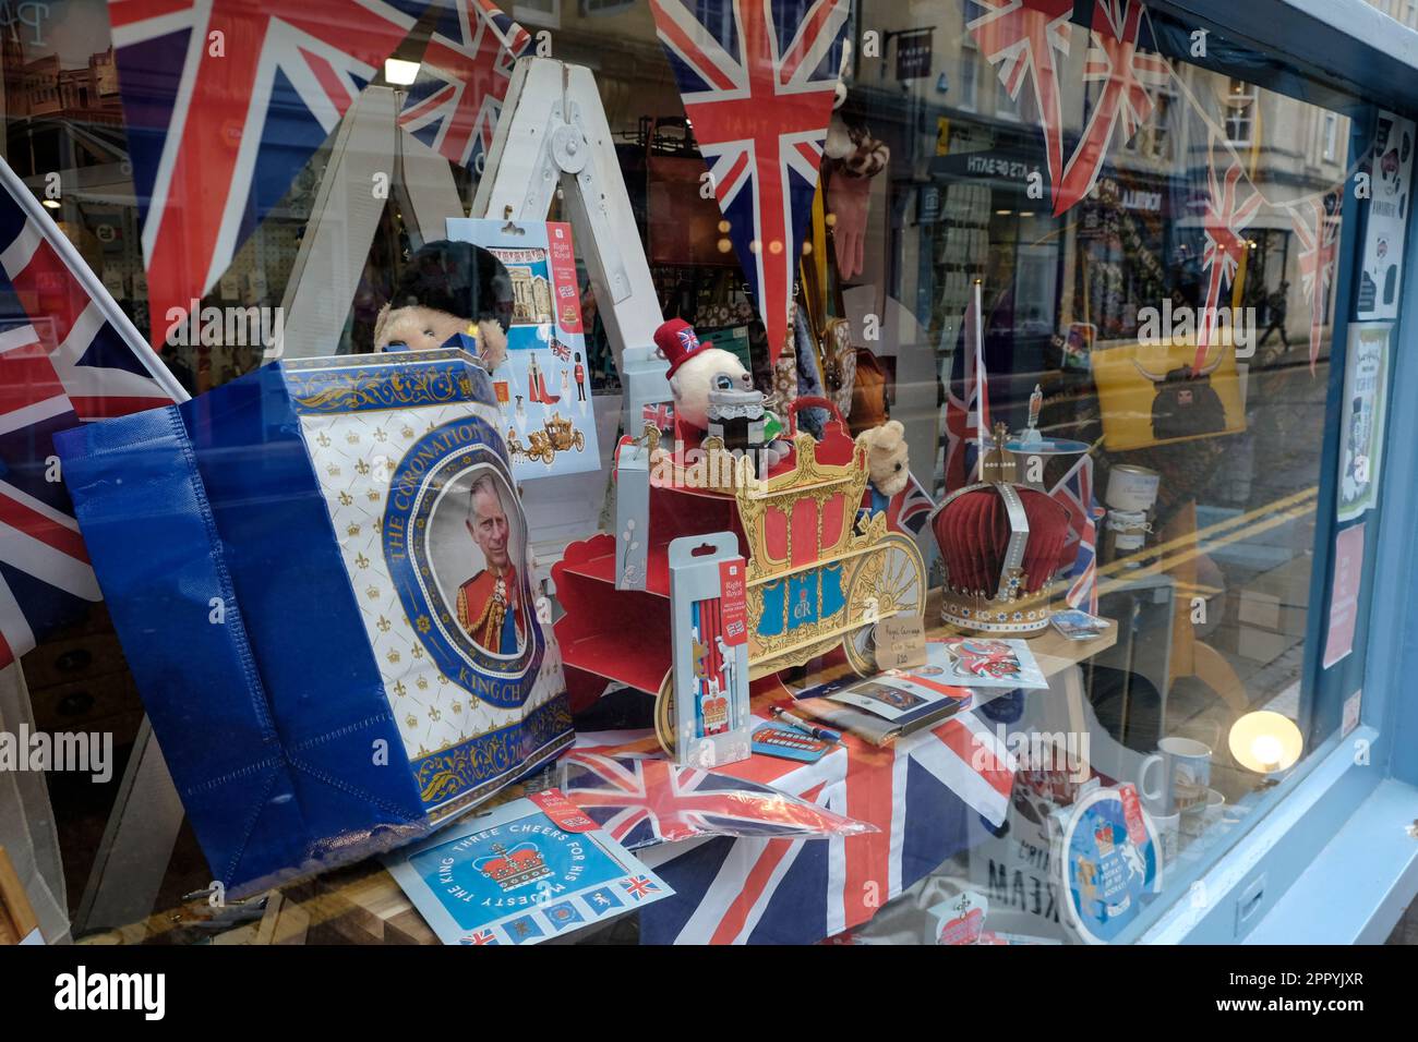
[[[1049,584],[1068,542],[1069,512],[1015,481],[1008,431],[980,461],[977,485],[951,495],[930,515],[946,568],[940,615],[983,634],[1027,635],[1049,624]]]

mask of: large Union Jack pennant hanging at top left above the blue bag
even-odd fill
[[[155,347],[427,6],[109,0]]]

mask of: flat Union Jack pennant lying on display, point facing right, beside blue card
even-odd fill
[[[703,835],[825,835],[861,827],[770,785],[668,760],[574,751],[562,791],[625,849]]]

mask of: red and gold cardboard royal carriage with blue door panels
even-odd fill
[[[873,628],[896,614],[922,614],[925,563],[915,540],[889,532],[886,515],[864,509],[866,452],[839,420],[821,442],[791,438],[793,452],[766,478],[747,455],[733,481],[708,466],[710,486],[695,486],[703,461],[652,465],[649,564],[645,588],[615,590],[615,539],[596,536],[567,547],[553,568],[566,614],[556,624],[573,689],[620,680],[658,696],[655,729],[674,743],[666,549],[679,536],[733,532],[747,561],[749,676],[773,676],[842,648],[861,675],[876,672]],[[710,447],[713,448],[713,447]],[[662,461],[652,454],[652,461]],[[625,620],[634,627],[625,627]],[[598,693],[598,690],[597,690]],[[583,699],[584,700],[584,699]]]

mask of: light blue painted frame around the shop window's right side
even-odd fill
[[[1228,40],[1255,47],[1265,54],[1283,54],[1286,62],[1327,82],[1340,82],[1371,109],[1387,109],[1418,118],[1411,98],[1395,89],[1395,79],[1418,72],[1418,33],[1394,31],[1392,21],[1364,0],[1255,0],[1236,6],[1229,0],[1156,0],[1154,10],[1208,28]],[[1363,133],[1373,132],[1373,122]],[[1358,130],[1356,129],[1356,133]],[[1344,193],[1343,221],[1360,228],[1358,201]],[[1391,343],[1392,374],[1390,398],[1401,400],[1418,391],[1418,220],[1409,213],[1398,322]],[[1334,344],[1343,344],[1343,329],[1353,312],[1353,279],[1363,250],[1356,234],[1353,248],[1341,252],[1337,279]],[[1407,344],[1407,346],[1405,346]],[[1336,381],[1339,381],[1336,387]],[[1330,394],[1341,393],[1343,366],[1332,366]],[[1337,414],[1327,424],[1320,474],[1320,502],[1327,509],[1316,519],[1316,571],[1307,642],[1323,637],[1329,614],[1329,547],[1336,530],[1333,481],[1337,468]],[[1418,439],[1418,410],[1390,410],[1385,438],[1390,447]],[[1392,448],[1390,449],[1392,455]],[[1229,851],[1222,853],[1197,883],[1194,897],[1174,900],[1161,916],[1127,940],[1140,943],[1236,943],[1259,923],[1266,923],[1268,941],[1313,941],[1307,923],[1271,923],[1265,916],[1312,865],[1330,853],[1330,841],[1361,809],[1381,795],[1383,787],[1418,787],[1418,698],[1404,696],[1405,680],[1418,671],[1418,607],[1411,591],[1418,583],[1418,547],[1411,533],[1418,530],[1418,482],[1402,482],[1390,468],[1380,508],[1366,520],[1380,522],[1374,539],[1373,567],[1367,571],[1363,597],[1370,607],[1364,641],[1354,655],[1364,658],[1360,726],[1347,736],[1330,736],[1302,768],[1276,787],[1278,801],[1266,808]],[[1326,523],[1327,522],[1327,523]],[[1324,570],[1319,567],[1326,554]],[[1316,652],[1312,652],[1316,654]],[[1317,654],[1316,654],[1317,656]],[[1360,756],[1363,753],[1363,756]],[[1391,822],[1388,822],[1390,827]],[[1353,842],[1353,839],[1351,839]],[[1377,846],[1374,848],[1377,849]],[[1383,865],[1366,863],[1368,886],[1383,889],[1366,923],[1327,924],[1353,937],[1384,936],[1402,907],[1418,896],[1418,851],[1408,858],[1391,858]],[[1195,885],[1194,885],[1195,887]],[[1384,889],[1387,887],[1387,889]],[[1241,926],[1241,904],[1254,899],[1255,914]],[[1323,910],[1316,909],[1323,917]],[[1392,921],[1384,921],[1388,917]]]

